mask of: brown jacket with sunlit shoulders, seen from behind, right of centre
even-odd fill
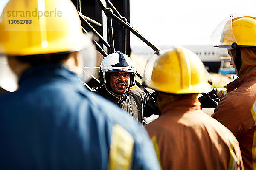
[[[171,102],[145,126],[156,136],[163,170],[243,170],[235,136],[199,109],[189,97]]]

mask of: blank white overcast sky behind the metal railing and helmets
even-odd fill
[[[9,0],[0,0],[0,11]],[[211,44],[230,14],[256,15],[256,0],[130,0],[130,23],[155,45]],[[131,46],[143,42],[131,36]]]

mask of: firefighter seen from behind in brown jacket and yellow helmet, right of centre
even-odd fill
[[[177,46],[148,60],[145,85],[158,92],[161,116],[145,125],[163,170],[243,170],[239,144],[200,111],[198,93],[212,90],[199,57]]]

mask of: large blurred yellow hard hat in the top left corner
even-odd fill
[[[0,17],[0,54],[80,51],[89,44],[70,0],[10,0]]]

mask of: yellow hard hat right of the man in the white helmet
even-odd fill
[[[206,70],[192,51],[175,47],[154,54],[145,67],[143,82],[149,88],[169,94],[194,94],[212,91]]]

